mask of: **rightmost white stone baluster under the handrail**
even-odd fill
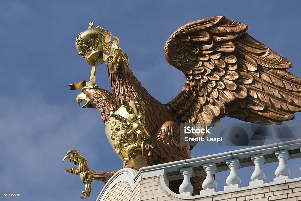
[[[279,160],[279,165],[276,168],[274,181],[289,179],[290,169],[286,165],[286,161],[290,160],[290,154],[287,149],[278,150],[275,152],[276,157]]]

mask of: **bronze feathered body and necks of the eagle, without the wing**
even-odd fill
[[[146,164],[149,166],[191,158],[190,148],[179,145],[180,126],[172,109],[152,97],[123,63],[118,70],[109,64],[109,73],[113,93],[104,89],[85,91],[91,107],[100,110],[104,123],[107,123],[110,114],[121,107],[122,100],[132,101],[135,97],[141,97],[145,110],[145,129],[150,134],[150,138],[143,141],[141,150]]]

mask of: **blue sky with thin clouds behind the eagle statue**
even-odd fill
[[[10,200],[81,200],[79,176],[64,172],[75,167],[62,162],[69,149],[78,149],[93,170],[122,168],[98,111],[79,107],[80,91],[67,86],[89,78],[90,67],[75,49],[75,38],[89,21],[119,37],[136,77],[167,103],[184,85],[182,72],[164,58],[167,38],[190,21],[218,15],[247,24],[252,37],[289,59],[289,71],[301,77],[300,6],[298,1],[2,1],[0,192],[23,192],[23,198]],[[105,64],[99,66],[96,84],[110,89],[106,74]],[[301,122],[301,114],[293,122]],[[239,148],[197,146],[192,155]],[[292,178],[299,177],[300,160],[293,163],[288,161]],[[275,177],[275,165],[264,166],[273,170],[266,172],[267,181]],[[238,173],[246,186],[253,169],[243,169]],[[217,174],[218,189],[227,174]],[[87,200],[95,200],[102,187],[93,182]]]

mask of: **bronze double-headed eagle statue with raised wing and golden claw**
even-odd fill
[[[301,111],[301,79],[287,72],[292,67],[290,61],[255,40],[247,30],[246,24],[225,16],[178,28],[166,41],[164,55],[169,64],[184,73],[186,82],[167,104],[157,101],[141,85],[119,47],[106,60],[112,93],[85,88],[85,97],[78,102],[86,100],[85,107],[98,109],[107,124],[118,108],[139,97],[147,137],[138,149],[145,166],[191,158],[192,147],[179,143],[182,122],[217,124],[225,116],[252,123],[277,124],[294,119],[294,113]],[[88,179],[85,197],[89,196],[92,180],[107,181],[115,173],[86,173],[85,158],[76,150],[70,150],[65,158],[82,165],[67,172],[80,174],[85,184]],[[131,166],[124,162],[124,167]],[[200,193],[204,179],[191,178],[193,195]],[[180,184],[171,181],[170,189],[178,193]]]

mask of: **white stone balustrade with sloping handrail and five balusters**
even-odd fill
[[[218,184],[213,174],[221,171],[229,171],[229,176],[226,178],[227,186],[224,187],[227,192],[241,188],[241,179],[237,170],[244,167],[255,166],[249,182],[250,188],[265,183],[265,173],[262,166],[266,163],[279,163],[275,170],[274,182],[289,180],[290,169],[287,167],[286,161],[293,158],[301,158],[301,139],[154,165],[141,168],[137,175],[150,174],[152,171],[163,172],[167,187],[169,181],[183,179],[179,187],[179,195],[190,196],[193,192],[190,179],[206,174],[206,179],[202,185],[204,190],[200,192],[200,195],[207,195],[216,191]]]

